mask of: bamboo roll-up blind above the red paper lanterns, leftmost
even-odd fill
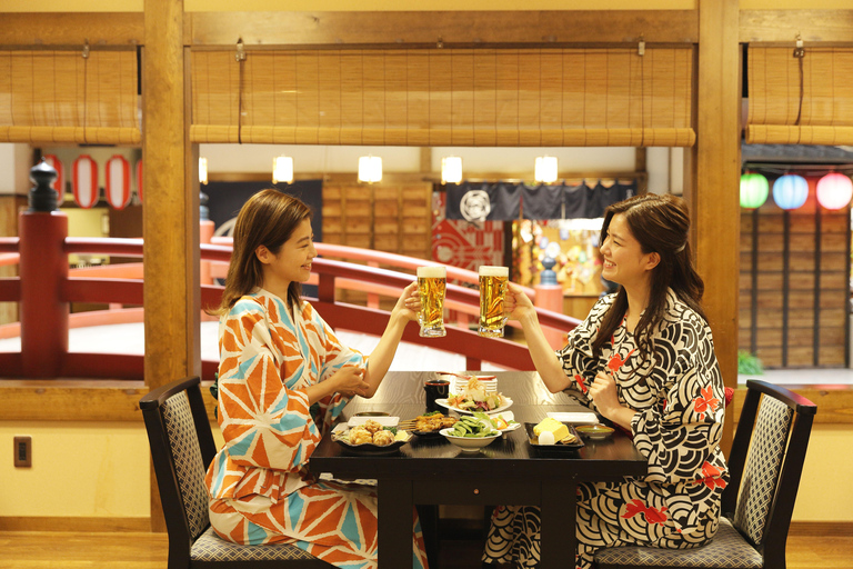
[[[0,142],[139,144],[136,51],[0,51]]]

